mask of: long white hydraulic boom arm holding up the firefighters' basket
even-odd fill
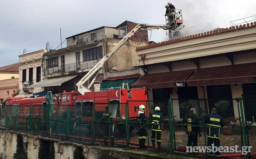
[[[92,80],[90,85],[85,87],[83,84],[88,81],[96,72],[99,73],[100,69],[104,66],[104,63],[113,55],[119,48],[126,43],[134,35],[134,33],[138,30],[152,30],[152,29],[164,29],[168,30],[168,25],[157,25],[157,24],[138,24],[132,31],[130,31],[127,35],[125,35],[122,40],[117,43],[76,85],[78,87],[78,92],[82,95],[85,94],[85,92],[91,92],[90,87],[95,81],[95,78]],[[98,74],[97,73],[97,74]]]

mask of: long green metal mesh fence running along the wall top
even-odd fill
[[[196,116],[200,120],[201,137],[198,137],[198,146],[207,145],[207,124],[204,116],[210,113],[212,107],[217,108],[217,113],[224,118],[226,127],[220,128],[221,146],[253,146],[252,153],[244,157],[254,157],[254,144],[256,143],[256,124],[247,107],[256,104],[256,98],[244,96],[237,99],[169,99],[162,101],[128,101],[119,103],[111,101],[105,104],[76,103],[76,105],[1,105],[0,128],[12,129],[53,137],[60,140],[70,140],[85,144],[103,144],[104,139],[111,144],[123,148],[138,148],[138,107],[145,105],[147,139],[145,146],[148,150],[173,154],[187,146],[188,136],[183,122],[184,116],[191,108],[196,109]],[[105,107],[109,109],[106,110]],[[154,107],[160,107],[164,115],[161,124],[161,150],[152,148],[152,124],[149,117],[154,112]],[[222,109],[226,107],[227,109]],[[253,108],[251,108],[253,109]],[[107,118],[105,118],[105,116]],[[113,120],[111,120],[111,118]],[[224,134],[228,135],[224,135]],[[157,138],[157,137],[156,137]],[[157,141],[155,142],[157,147]],[[240,149],[241,150],[241,149]],[[225,155],[235,153],[221,154]],[[239,153],[235,154],[239,157]]]

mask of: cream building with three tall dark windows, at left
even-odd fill
[[[43,54],[47,50],[38,50],[19,55],[19,89],[20,94],[31,94],[43,91],[40,87],[30,87],[43,80]]]

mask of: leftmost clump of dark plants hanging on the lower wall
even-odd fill
[[[13,159],[28,159],[28,153],[23,148],[23,137],[21,135],[17,135],[17,148]]]

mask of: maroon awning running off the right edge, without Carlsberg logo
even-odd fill
[[[199,68],[186,81],[188,86],[252,83],[256,77],[256,63]]]

